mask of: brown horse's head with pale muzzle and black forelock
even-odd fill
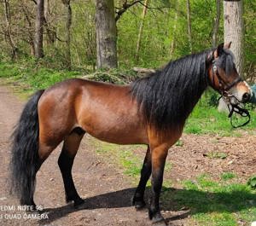
[[[212,88],[231,105],[237,105],[239,102],[247,102],[252,96],[252,90],[236,71],[230,44],[222,43],[212,52],[208,74]]]

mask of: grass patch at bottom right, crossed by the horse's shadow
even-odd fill
[[[236,226],[242,222],[249,226],[256,220],[255,190],[232,178],[227,183],[201,175],[193,181],[183,181],[182,189],[164,189],[161,200],[166,210],[189,209],[195,225]]]

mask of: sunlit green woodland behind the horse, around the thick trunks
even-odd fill
[[[42,2],[44,11],[38,17],[38,5]],[[15,61],[21,66],[27,61],[38,63],[42,58],[40,65],[47,68],[95,71],[99,57],[96,2],[111,4],[113,1],[1,0],[0,62]],[[242,2],[243,76],[253,82],[256,3]],[[117,65],[113,67],[120,70],[161,67],[170,60],[224,42],[224,7],[220,0],[117,0],[113,7],[118,55]],[[40,19],[43,53],[37,55]]]

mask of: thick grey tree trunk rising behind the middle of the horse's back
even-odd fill
[[[113,0],[96,0],[97,68],[117,67],[116,41]]]

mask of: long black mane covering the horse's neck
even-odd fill
[[[170,61],[164,69],[131,84],[149,125],[168,130],[183,124],[207,89],[207,57],[212,49]]]

